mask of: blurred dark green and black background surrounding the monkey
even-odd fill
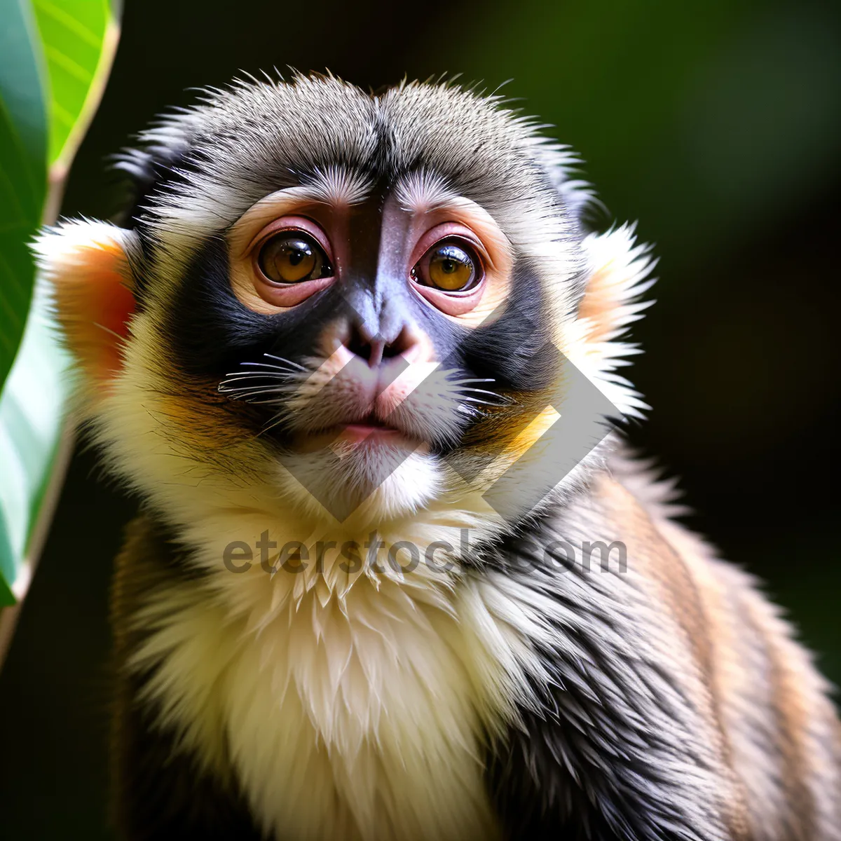
[[[64,212],[113,213],[105,156],[239,69],[329,66],[371,87],[513,78],[505,93],[587,161],[608,209],[595,225],[638,219],[661,258],[634,331],[654,407],[635,441],[838,681],[839,8],[129,0]],[[0,674],[3,838],[108,835],[106,595],[132,507],[79,452]]]

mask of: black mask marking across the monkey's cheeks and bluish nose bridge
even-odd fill
[[[360,235],[377,232],[377,238],[361,250],[361,262],[341,282],[277,315],[254,312],[236,298],[225,241],[206,241],[167,310],[164,331],[172,346],[173,366],[188,377],[219,383],[244,363],[264,362],[265,354],[303,363],[317,355],[320,335],[336,319],[365,324],[371,334],[387,333],[389,341],[400,325],[414,320],[431,337],[444,368],[493,377],[495,388],[503,392],[536,391],[551,382],[556,356],[540,352],[550,336],[541,283],[525,258],[516,260],[513,291],[504,311],[487,324],[468,329],[411,293],[408,278],[378,277],[370,252],[377,250],[381,216],[369,216],[360,217]],[[270,424],[274,412],[268,406],[257,407],[241,417],[254,433]],[[256,423],[251,424],[252,418]],[[272,425],[267,437],[281,447],[288,443],[282,425]],[[439,449],[446,453],[454,446]]]

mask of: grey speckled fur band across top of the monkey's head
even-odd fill
[[[162,118],[117,166],[138,185],[141,228],[213,235],[267,193],[328,173],[358,188],[432,173],[516,236],[524,204],[579,237],[591,198],[578,159],[503,98],[404,82],[379,96],[331,76],[235,82]],[[527,232],[524,232],[527,235]],[[516,244],[516,241],[515,241]]]

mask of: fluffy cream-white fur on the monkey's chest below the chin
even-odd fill
[[[482,740],[526,691],[523,598],[493,576],[218,570],[156,596],[134,662],[278,838],[495,838]]]

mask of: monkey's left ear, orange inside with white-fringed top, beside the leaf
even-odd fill
[[[33,251],[53,288],[66,346],[92,384],[121,365],[121,347],[135,311],[130,262],[139,244],[133,230],[74,220],[45,229]]]

